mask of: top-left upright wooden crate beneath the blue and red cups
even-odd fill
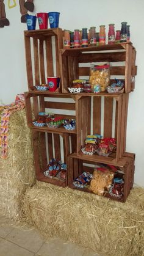
[[[63,48],[62,29],[24,31],[24,42],[29,90],[37,90],[34,86],[47,84],[48,76],[60,77],[59,49]],[[58,91],[61,91],[61,86]]]

